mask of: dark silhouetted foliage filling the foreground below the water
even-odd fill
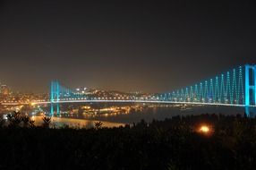
[[[201,123],[212,125],[211,136],[196,132]],[[112,129],[13,127],[0,129],[0,169],[256,167],[256,119],[240,115],[176,116]]]

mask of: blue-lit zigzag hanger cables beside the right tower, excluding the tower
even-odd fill
[[[179,101],[183,102],[244,105],[243,77],[241,66],[233,69],[232,72],[225,72],[215,78],[196,83],[185,90],[175,90],[169,100],[175,101],[179,98]]]

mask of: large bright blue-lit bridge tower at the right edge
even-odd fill
[[[245,113],[250,116],[256,113],[256,65],[245,65]]]

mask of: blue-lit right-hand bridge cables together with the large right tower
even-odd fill
[[[169,101],[228,106],[256,105],[256,66],[243,65],[170,93]],[[164,99],[161,98],[160,99]],[[248,114],[248,110],[246,111]]]

